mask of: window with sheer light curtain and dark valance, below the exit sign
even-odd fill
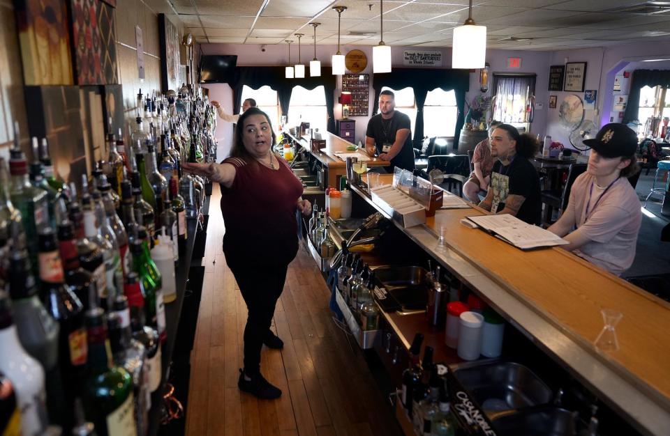
[[[493,75],[496,106],[493,119],[502,123],[531,123],[530,96],[535,93],[535,75]]]

